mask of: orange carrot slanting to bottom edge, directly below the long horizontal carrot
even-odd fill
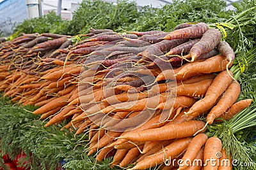
[[[157,152],[154,155],[150,155],[145,159],[141,160],[136,164],[136,166],[132,167],[132,169],[147,169],[152,166],[157,166],[164,162],[165,159],[176,158],[180,155],[180,153],[184,152],[188,147],[191,138],[180,138],[177,141],[174,141],[168,146],[163,148],[163,151]]]

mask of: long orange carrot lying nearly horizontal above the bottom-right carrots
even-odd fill
[[[195,132],[202,129],[205,122],[198,120],[188,120],[179,124],[165,125],[157,129],[148,129],[129,134],[124,134],[118,138],[132,141],[163,141],[175,138],[185,138],[193,136]],[[205,131],[206,129],[204,129]]]

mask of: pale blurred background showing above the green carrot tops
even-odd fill
[[[12,33],[13,25],[25,19],[40,17],[51,11],[61,15],[62,19],[72,19],[72,13],[83,0],[0,0],[0,30],[3,34]],[[105,0],[116,3],[116,0]],[[225,0],[227,10],[232,10],[231,3],[238,0]],[[160,8],[164,4],[171,4],[170,0],[136,0],[138,7],[152,6]]]

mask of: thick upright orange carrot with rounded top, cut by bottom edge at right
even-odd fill
[[[205,169],[218,169],[218,153],[221,153],[222,143],[217,137],[207,139],[204,148],[204,167]],[[214,160],[213,164],[210,160]]]

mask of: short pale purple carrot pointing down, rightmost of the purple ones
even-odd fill
[[[220,41],[220,43],[218,45],[218,51],[221,53],[221,55],[226,57],[226,59],[228,60],[227,67],[230,64],[232,64],[232,61],[235,59],[235,53],[234,53],[233,49],[231,48],[231,46],[227,42]]]

